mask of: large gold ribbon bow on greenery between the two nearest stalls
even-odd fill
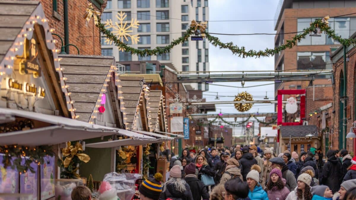
[[[82,160],[83,162],[87,163],[90,160],[90,157],[85,154],[85,153],[78,153],[78,151],[83,151],[82,144],[79,142],[75,143],[75,146],[73,146],[70,142],[67,142],[67,147],[61,149],[63,157],[66,157],[64,159],[64,167],[68,167],[70,161],[72,161],[74,156],[77,156],[79,160]]]

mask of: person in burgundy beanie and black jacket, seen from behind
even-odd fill
[[[197,179],[197,176],[195,175],[195,164],[190,163],[185,167],[184,169],[185,172],[185,182],[190,187],[190,190],[192,192],[193,200],[208,200],[209,199],[209,193],[206,190],[206,187],[201,180]]]

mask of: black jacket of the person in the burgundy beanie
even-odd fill
[[[192,192],[193,200],[203,200],[209,199],[209,193],[206,191],[206,187],[201,180],[197,179],[195,175],[187,175],[188,177],[185,177],[185,181],[188,183],[190,186],[190,190]]]

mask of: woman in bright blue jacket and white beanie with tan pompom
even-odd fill
[[[251,200],[268,200],[267,193],[262,189],[260,181],[261,168],[257,164],[251,166],[250,172],[246,175],[248,185],[248,198]]]

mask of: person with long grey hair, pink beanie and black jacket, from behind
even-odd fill
[[[192,192],[185,180],[181,179],[182,172],[178,165],[174,165],[169,170],[169,179],[164,183],[160,200],[168,198],[175,200],[193,200]]]

